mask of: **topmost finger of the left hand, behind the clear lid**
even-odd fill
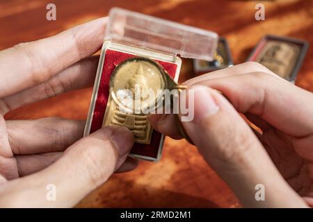
[[[95,53],[104,39],[106,18],[70,28],[0,52],[0,97],[44,82]],[[18,63],[17,63],[18,62]]]

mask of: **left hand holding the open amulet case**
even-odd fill
[[[134,138],[125,128],[102,128],[80,139],[83,121],[3,119],[26,103],[93,85],[99,57],[88,56],[101,47],[105,26],[105,18],[97,19],[0,51],[1,207],[72,207],[117,169],[136,167],[127,159]],[[49,184],[56,201],[46,198]]]

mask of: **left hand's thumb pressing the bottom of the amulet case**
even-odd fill
[[[3,185],[0,206],[72,207],[108,180],[125,162],[133,143],[134,136],[125,128],[97,130],[70,146],[46,169]],[[55,201],[47,200],[47,185],[55,188]]]

